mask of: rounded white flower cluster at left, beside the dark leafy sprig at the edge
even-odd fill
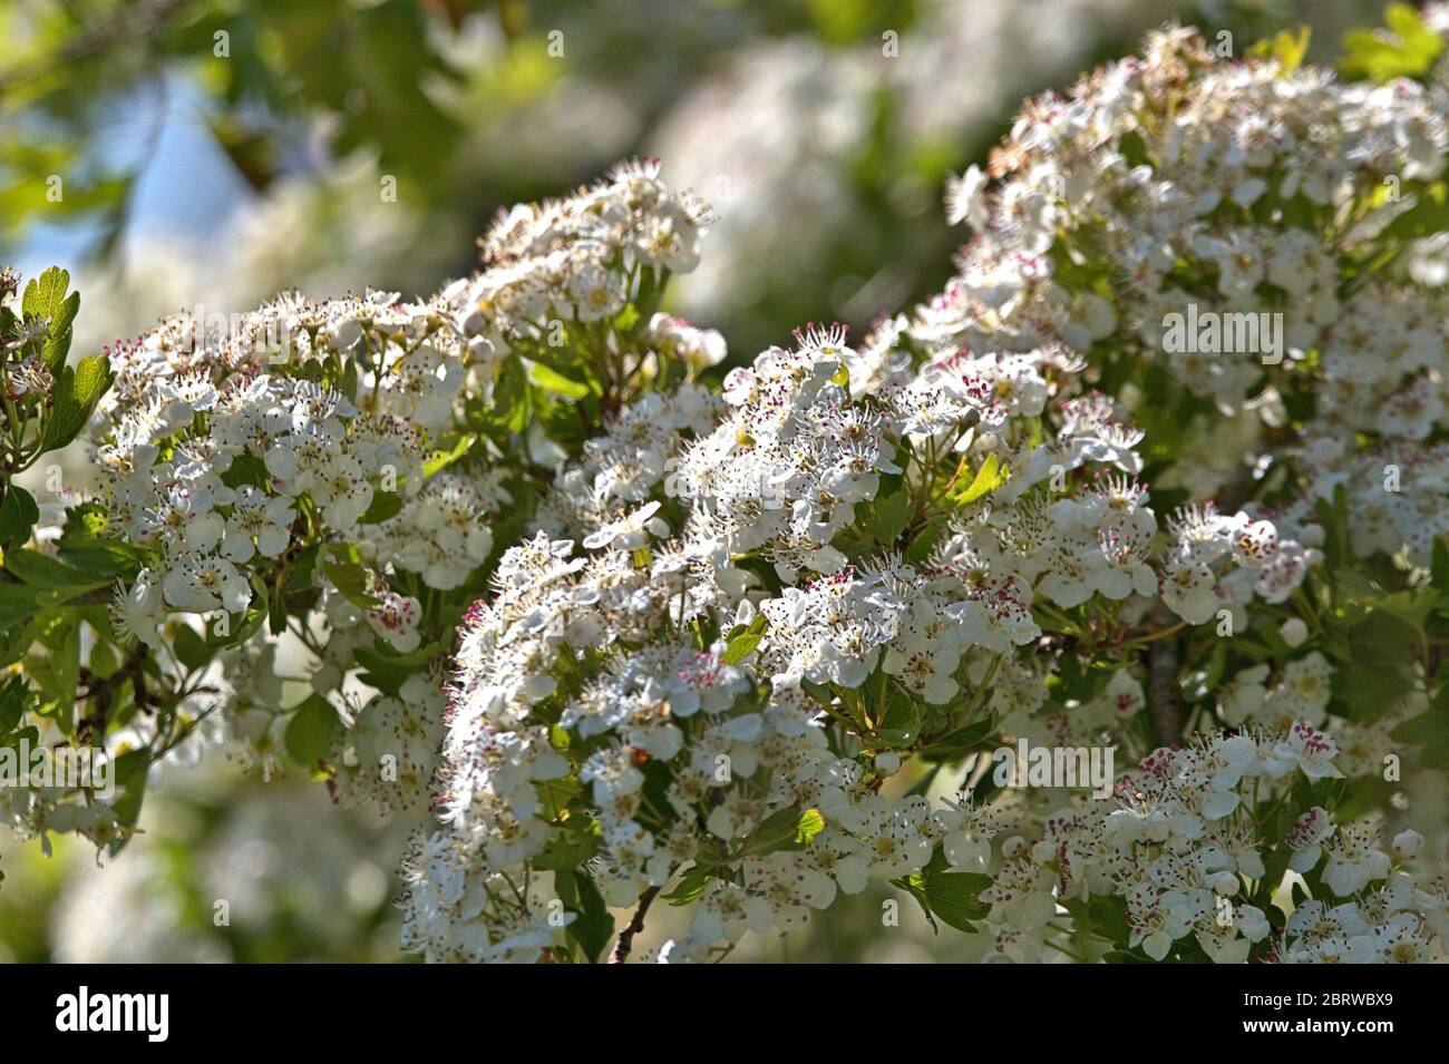
[[[119,628],[154,640],[170,611],[242,614],[309,534],[354,533],[378,494],[417,492],[467,343],[440,307],[394,300],[284,297],[225,337],[177,317],[114,352],[100,499],[149,552],[117,594]]]

